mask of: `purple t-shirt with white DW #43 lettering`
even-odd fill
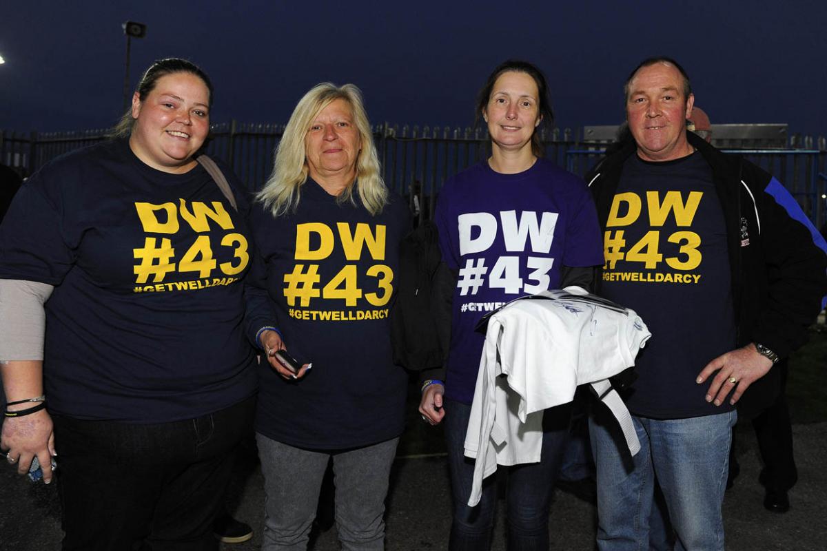
[[[442,259],[457,272],[446,396],[471,403],[485,340],[474,327],[504,302],[557,288],[562,266],[603,264],[586,184],[550,161],[501,174],[483,161],[450,178],[437,202]]]

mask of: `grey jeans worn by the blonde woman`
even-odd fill
[[[256,433],[265,478],[263,551],[304,551],[318,495],[333,462],[342,551],[385,549],[385,496],[399,438],[341,451],[294,448]]]

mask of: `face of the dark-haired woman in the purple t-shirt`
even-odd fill
[[[501,150],[531,150],[531,136],[540,124],[539,92],[530,75],[508,71],[491,88],[482,112],[491,145]]]

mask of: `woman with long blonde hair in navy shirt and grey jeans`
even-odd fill
[[[380,177],[356,86],[302,97],[258,201],[247,290],[250,335],[269,360],[256,412],[262,549],[306,549],[331,458],[342,549],[384,549],[407,381],[388,315],[410,216]]]

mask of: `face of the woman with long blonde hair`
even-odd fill
[[[310,178],[317,183],[336,187],[353,183],[361,136],[347,101],[333,100],[318,112],[304,136],[304,150]]]

